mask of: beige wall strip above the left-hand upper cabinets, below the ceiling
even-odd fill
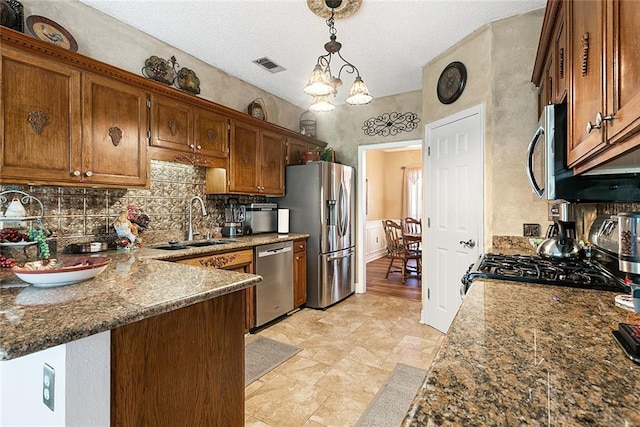
[[[262,98],[270,122],[299,130],[299,118],[304,111],[301,108],[83,3],[76,0],[21,0],[21,3],[24,16],[46,16],[66,28],[78,42],[78,53],[138,75],[151,55],[165,59],[175,56],[181,67],[192,69],[200,79],[199,97],[239,111],[246,111],[252,100]],[[126,8],[126,2],[122,2],[122,7]]]

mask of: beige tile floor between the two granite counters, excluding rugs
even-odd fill
[[[421,303],[355,294],[303,309],[257,335],[302,348],[245,389],[245,426],[352,426],[396,363],[427,369],[443,334]]]

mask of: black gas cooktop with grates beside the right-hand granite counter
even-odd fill
[[[463,292],[466,293],[471,281],[476,277],[629,292],[624,281],[592,261],[546,259],[530,255],[485,254],[469,267],[469,271],[462,278]]]

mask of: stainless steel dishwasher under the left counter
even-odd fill
[[[256,327],[293,310],[293,242],[256,246]]]

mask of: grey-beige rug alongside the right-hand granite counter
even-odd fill
[[[413,366],[396,364],[387,382],[380,387],[367,409],[358,420],[359,427],[394,427],[402,420],[411,401],[424,382],[427,371]]]

